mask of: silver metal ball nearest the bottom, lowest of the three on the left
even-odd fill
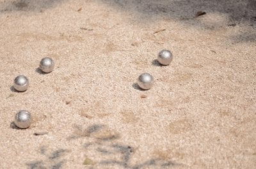
[[[14,123],[18,128],[29,128],[29,126],[31,125],[32,122],[32,117],[31,114],[26,111],[26,110],[20,110],[20,112],[18,112],[15,115],[15,119],[14,119]]]

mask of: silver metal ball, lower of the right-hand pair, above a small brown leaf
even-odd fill
[[[152,87],[154,78],[149,73],[142,73],[138,78],[138,85],[141,89],[148,90]]]

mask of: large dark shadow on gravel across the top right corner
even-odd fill
[[[256,25],[256,2],[255,0],[219,0],[218,3],[212,0],[100,0],[102,3],[108,4],[116,11],[124,13],[131,13],[134,18],[132,22],[146,24],[152,23],[155,20],[177,20],[188,27],[196,27],[200,29],[209,29],[212,27],[216,29],[227,26],[228,23],[236,24],[251,24]],[[196,13],[196,11],[199,11]],[[228,20],[219,21],[215,23],[205,22],[196,16],[212,15],[225,15]]]

